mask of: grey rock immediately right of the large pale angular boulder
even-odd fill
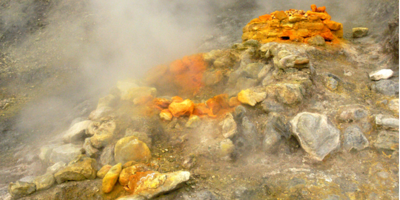
[[[352,148],[356,150],[362,150],[365,147],[368,147],[369,142],[368,139],[366,139],[364,133],[362,133],[360,127],[358,127],[357,125],[351,125],[344,130],[343,145],[344,148],[348,151]]]

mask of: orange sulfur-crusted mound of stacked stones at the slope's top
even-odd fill
[[[307,42],[314,35],[322,36],[325,41],[338,43],[343,36],[343,25],[330,20],[325,6],[311,5],[311,10],[289,9],[274,11],[252,19],[243,27],[243,42],[249,39],[261,43],[270,41]]]

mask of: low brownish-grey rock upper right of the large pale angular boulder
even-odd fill
[[[346,105],[340,108],[339,113],[339,119],[348,122],[360,121],[369,115],[363,105]]]

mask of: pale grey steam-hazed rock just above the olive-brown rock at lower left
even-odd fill
[[[82,154],[81,149],[82,149],[81,146],[74,145],[71,143],[56,147],[51,152],[50,162],[56,163],[59,161],[63,161],[67,163],[76,156]]]

